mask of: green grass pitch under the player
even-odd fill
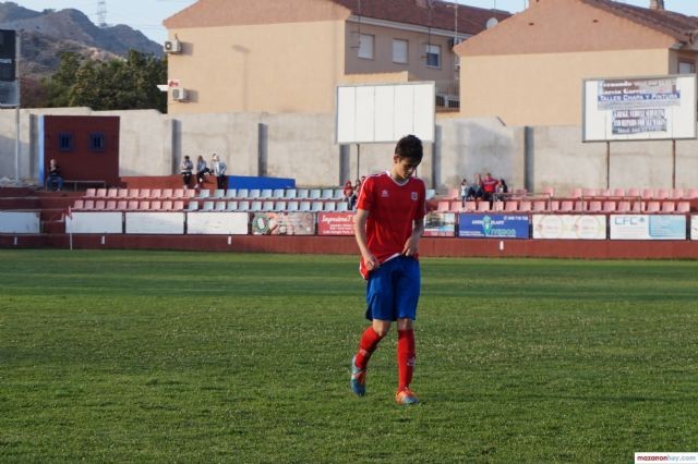
[[[422,258],[362,399],[358,256],[0,251],[0,462],[631,462],[698,451],[698,262]]]

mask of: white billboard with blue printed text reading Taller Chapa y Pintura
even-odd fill
[[[583,142],[696,138],[696,75],[583,82]]]

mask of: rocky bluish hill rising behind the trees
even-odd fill
[[[38,12],[14,2],[0,2],[0,29],[20,30],[22,72],[35,77],[52,73],[64,51],[95,60],[125,56],[130,49],[163,54],[161,45],[141,32],[124,25],[98,27],[73,9]]]

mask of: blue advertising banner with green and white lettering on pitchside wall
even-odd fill
[[[458,236],[468,239],[528,239],[527,215],[458,215]]]

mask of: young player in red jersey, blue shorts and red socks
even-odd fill
[[[402,137],[389,171],[371,175],[357,200],[354,234],[366,285],[366,318],[359,352],[351,361],[351,390],[365,393],[366,367],[378,342],[397,321],[398,404],[417,404],[410,390],[414,369],[413,320],[420,293],[417,245],[424,232],[425,187],[412,176],[422,161],[422,142]]]

